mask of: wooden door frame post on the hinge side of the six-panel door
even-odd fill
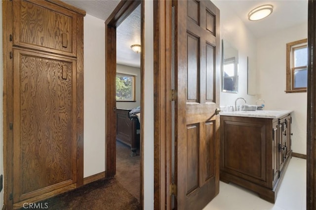
[[[154,209],[171,209],[172,2],[154,0]]]

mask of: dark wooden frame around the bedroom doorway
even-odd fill
[[[141,5],[141,122],[144,122],[144,0],[121,0],[105,22],[105,176],[116,174],[116,73],[117,73],[117,39],[116,29],[133,10]],[[144,124],[140,124],[140,204],[144,206]]]

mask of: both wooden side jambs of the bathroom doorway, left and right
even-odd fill
[[[167,51],[170,43],[165,38],[170,38],[167,34],[168,27],[171,26],[169,6],[166,1],[154,1],[154,91],[155,98],[170,98],[170,92],[163,84],[169,81],[170,77],[163,74],[166,69]],[[316,209],[316,0],[309,0],[308,11],[308,109],[307,109],[307,210]],[[160,40],[161,39],[161,40]],[[313,54],[312,54],[313,47]],[[313,55],[313,57],[312,57]],[[158,99],[157,99],[158,101]],[[155,101],[156,102],[156,101]],[[170,183],[170,145],[166,144],[163,137],[169,137],[167,129],[160,127],[159,118],[167,117],[171,112],[166,112],[155,103],[155,136],[154,136],[154,208],[171,209],[167,190]],[[160,117],[159,115],[160,114]],[[164,118],[166,119],[166,118]],[[169,148],[168,148],[169,147]]]

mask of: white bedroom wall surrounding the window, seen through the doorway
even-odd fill
[[[140,106],[140,69],[117,64],[117,73],[135,75],[135,101],[136,102],[117,102],[117,108],[135,108]]]

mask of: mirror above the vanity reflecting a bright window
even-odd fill
[[[238,50],[223,39],[222,91],[238,93]]]

